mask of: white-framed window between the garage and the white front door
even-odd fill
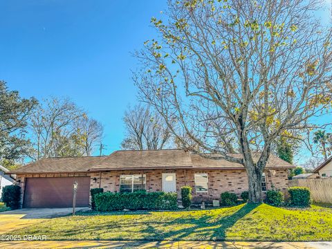
[[[145,186],[145,174],[120,176],[120,192],[135,192],[138,190],[145,190]]]

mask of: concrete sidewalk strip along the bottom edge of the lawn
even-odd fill
[[[332,248],[332,242],[2,241],[0,248]]]

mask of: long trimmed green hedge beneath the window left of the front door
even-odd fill
[[[176,210],[177,194],[137,191],[133,193],[104,192],[95,195],[95,209],[101,212],[114,210]]]

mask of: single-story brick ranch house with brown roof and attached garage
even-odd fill
[[[288,172],[294,166],[270,156],[262,190],[272,186],[286,191]],[[89,205],[90,189],[104,191],[177,192],[193,188],[194,202],[219,199],[222,192],[241,194],[248,190],[243,165],[226,160],[211,160],[185,149],[115,151],[109,156],[45,158],[10,172],[17,174],[24,208],[71,207],[73,183],[78,183],[77,206]]]

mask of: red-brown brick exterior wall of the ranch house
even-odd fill
[[[146,190],[148,192],[162,191],[162,173],[176,173],[176,192],[178,199],[181,199],[181,187],[192,187],[194,203],[210,203],[214,199],[219,199],[222,192],[232,192],[238,196],[241,192],[248,190],[248,178],[244,169],[237,170],[192,170],[192,169],[149,169],[149,170],[122,170],[111,172],[95,173],[75,173],[75,174],[26,174],[17,175],[21,180],[20,186],[22,197],[24,193],[25,179],[28,177],[68,177],[68,176],[91,176],[90,187],[102,187],[104,191],[120,191],[120,175],[145,174]],[[194,174],[208,174],[208,192],[196,193]],[[101,179],[101,181],[100,181]],[[95,181],[95,182],[94,182]],[[288,188],[288,169],[267,169],[266,170],[267,189],[274,186],[277,190],[282,190],[286,194]],[[23,201],[23,200],[22,200]]]

